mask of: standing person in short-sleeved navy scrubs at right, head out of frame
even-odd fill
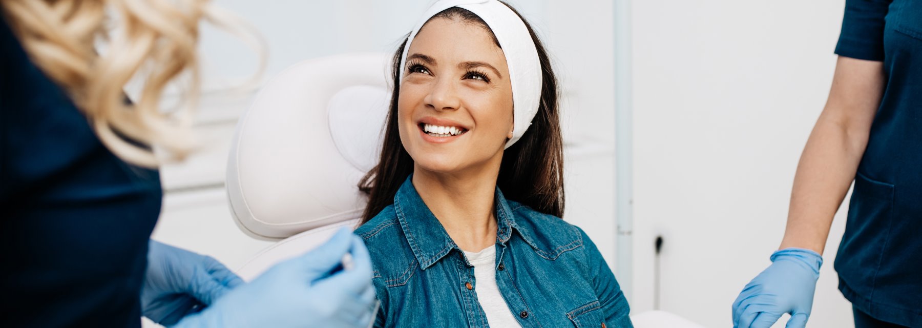
[[[810,317],[823,246],[855,326],[922,327],[922,1],[846,0],[829,100],[800,158],[785,238],[733,303],[734,327]]]

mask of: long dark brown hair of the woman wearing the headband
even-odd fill
[[[515,15],[522,18],[522,15],[512,6],[509,8],[513,9]],[[492,34],[487,23],[467,9],[451,7],[429,20],[434,18],[449,18],[477,24]],[[522,21],[525,22],[528,34],[531,35],[531,39],[535,41],[535,48],[538,49],[542,76],[541,100],[538,104],[538,113],[525,135],[522,135],[522,138],[504,151],[496,184],[507,199],[528,205],[541,213],[562,217],[563,141],[557,103],[557,77],[554,76],[554,71],[550,67],[550,58],[544,45],[538,39],[538,35],[525,18],[522,18]],[[495,35],[493,41],[499,46]],[[378,165],[359,182],[359,189],[369,195],[368,205],[361,216],[361,223],[368,222],[384,210],[384,207],[393,204],[394,195],[400,185],[413,172],[413,158],[410,158],[407,149],[404,148],[397,131],[400,76],[403,73],[403,67],[400,67],[400,57],[406,46],[407,40],[405,39],[394,53],[392,76],[394,92],[391,95],[390,111],[385,121],[381,159]]]

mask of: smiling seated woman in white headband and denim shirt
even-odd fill
[[[375,326],[631,327],[608,264],[561,219],[557,83],[527,22],[496,0],[440,1],[393,77],[356,230]]]

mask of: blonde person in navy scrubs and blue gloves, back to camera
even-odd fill
[[[104,10],[122,10],[123,20],[143,11],[155,23],[158,15],[182,11],[105,4],[117,6],[0,3],[0,326],[139,327],[142,315],[177,327],[367,326],[374,300],[371,260],[349,230],[250,283],[210,257],[149,240],[160,216],[158,171],[124,160],[137,153],[114,151],[102,141],[92,125],[100,122],[93,116],[99,112],[76,104],[95,91],[82,88],[89,83],[68,84],[79,68],[61,63],[79,66],[75,47],[91,50],[93,39],[67,38],[94,21],[101,25]],[[130,29],[143,37],[146,27],[134,23]],[[153,49],[171,41],[164,37]],[[136,54],[112,61],[130,63]],[[116,98],[124,98],[123,87],[114,86]],[[116,120],[110,117],[112,125]],[[115,137],[141,153],[158,146],[128,136],[137,131],[120,132]],[[348,253],[353,265],[344,269]]]

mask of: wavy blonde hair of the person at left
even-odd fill
[[[32,62],[65,89],[102,144],[138,166],[159,165],[153,148],[179,159],[193,148],[200,21],[260,53],[254,79],[265,67],[254,29],[208,0],[3,0],[0,6]],[[133,79],[143,88],[129,103],[124,87]],[[163,111],[161,96],[175,83],[182,84],[182,104]]]

